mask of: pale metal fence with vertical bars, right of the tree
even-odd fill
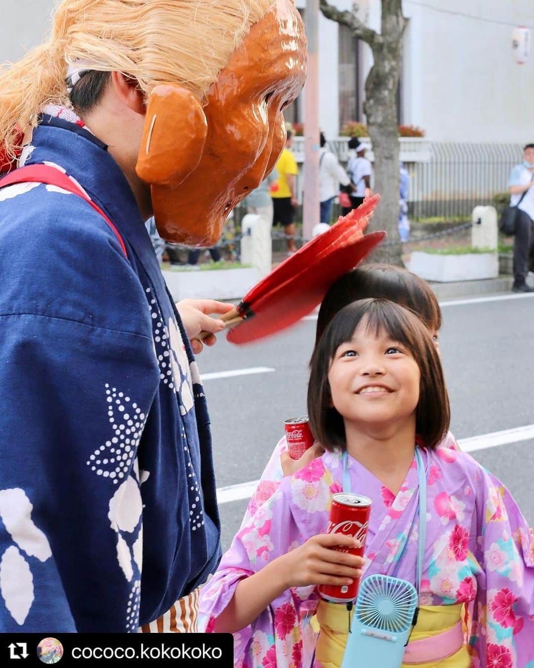
[[[494,204],[508,190],[511,168],[521,161],[521,144],[431,143],[429,160],[407,164],[413,220],[469,217],[478,204]]]

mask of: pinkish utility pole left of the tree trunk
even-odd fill
[[[312,238],[319,222],[319,0],[306,0],[308,75],[304,90],[304,206],[302,233]]]

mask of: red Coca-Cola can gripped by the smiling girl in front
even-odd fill
[[[358,547],[336,547],[334,550],[363,556],[365,538],[369,524],[369,515],[372,501],[368,496],[338,492],[332,497],[330,519],[328,520],[328,534],[344,534],[358,540]],[[319,585],[319,593],[326,601],[334,603],[348,603],[355,601],[360,587],[360,578],[354,578],[352,585]]]

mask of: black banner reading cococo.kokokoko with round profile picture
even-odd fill
[[[230,633],[1,633],[0,665],[234,665]]]

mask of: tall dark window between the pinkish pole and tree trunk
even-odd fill
[[[339,127],[360,120],[358,39],[346,25],[339,26]]]

